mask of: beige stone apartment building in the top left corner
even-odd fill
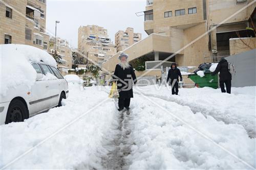
[[[8,43],[48,50],[46,0],[0,2],[0,44]]]

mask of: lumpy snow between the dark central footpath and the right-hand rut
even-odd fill
[[[189,107],[135,94],[129,169],[251,169],[255,167],[255,139],[240,125],[226,125]],[[165,110],[162,110],[164,108]],[[175,116],[187,124],[182,123]],[[203,135],[200,135],[201,134]],[[208,140],[210,138],[212,141]],[[215,143],[214,143],[215,142]],[[218,145],[220,147],[218,147]],[[221,149],[225,148],[236,157]]]

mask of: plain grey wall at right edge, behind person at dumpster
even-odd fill
[[[226,57],[236,74],[232,77],[232,87],[256,86],[256,49]]]

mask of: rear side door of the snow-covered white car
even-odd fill
[[[54,72],[49,68],[46,64],[39,64],[42,68],[42,70],[45,72],[45,75],[52,74],[55,76]],[[50,99],[48,100],[49,107],[54,107],[58,105],[59,101],[59,94],[60,94],[60,88],[59,88],[59,81],[58,78],[55,76],[55,79],[48,79],[49,83],[48,92],[50,93]]]

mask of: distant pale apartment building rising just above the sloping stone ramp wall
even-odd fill
[[[125,31],[118,31],[115,34],[115,46],[117,52],[125,50],[125,48],[141,40],[140,33],[134,33],[133,28],[127,28]]]

